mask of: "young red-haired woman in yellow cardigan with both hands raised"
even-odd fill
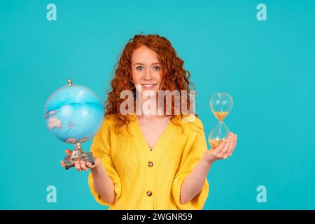
[[[92,141],[95,165],[76,162],[78,171],[91,170],[88,183],[97,202],[109,209],[202,209],[209,193],[207,173],[214,161],[232,155],[237,136],[230,132],[208,150],[197,116],[176,114],[174,102],[171,114],[165,113],[165,102],[150,106],[162,114],[145,113],[143,107],[159,90],[188,95],[189,77],[167,38],[136,35],[127,43],[111,81],[103,125]],[[133,105],[122,106],[125,90],[132,93],[127,98]],[[139,111],[137,103],[142,103]],[[191,106],[189,95],[180,104]]]

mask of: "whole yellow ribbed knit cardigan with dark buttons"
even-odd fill
[[[207,141],[202,122],[179,118],[181,127],[169,122],[152,151],[141,132],[137,116],[132,116],[128,134],[114,132],[115,116],[106,116],[94,136],[91,151],[115,185],[116,201],[107,204],[94,190],[92,174],[88,183],[97,202],[109,209],[202,209],[209,193],[206,179],[202,191],[186,204],[179,202],[181,185],[202,155]],[[149,162],[151,162],[149,164]],[[151,196],[150,193],[151,192]]]

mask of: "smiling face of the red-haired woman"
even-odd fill
[[[158,93],[162,81],[162,67],[158,55],[154,50],[146,46],[137,48],[132,53],[132,80],[137,91],[141,94],[145,90],[153,90]]]

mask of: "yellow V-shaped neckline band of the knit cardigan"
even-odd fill
[[[146,138],[144,137],[144,134],[141,131],[141,127],[139,125],[138,117],[136,115],[134,115],[134,117],[136,118],[135,123],[136,123],[136,127],[137,127],[137,137],[139,137],[139,141],[141,141],[141,144],[143,146],[146,146],[146,149],[149,152],[153,151],[153,153],[155,153],[157,148],[162,146],[162,144],[165,144],[165,142],[167,141],[168,137],[170,136],[170,134],[168,134],[168,132],[171,129],[171,126],[173,125],[172,121],[169,120],[169,123],[167,124],[167,127],[165,127],[165,130],[162,132],[162,134],[160,134],[160,137],[158,138],[158,140],[155,141],[155,144],[154,144],[153,148],[150,148],[150,146],[148,145],[148,142],[146,141]]]

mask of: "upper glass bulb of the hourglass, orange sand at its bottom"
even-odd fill
[[[228,116],[232,106],[233,99],[228,92],[216,92],[212,94],[210,98],[211,111],[220,121],[223,121],[223,119]]]

